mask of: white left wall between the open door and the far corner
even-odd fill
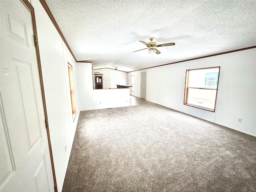
[[[80,113],[76,62],[52,24],[39,0],[31,0],[35,10],[48,124],[58,191],[62,190],[74,133]],[[68,76],[73,65],[77,114],[73,122]],[[66,152],[65,152],[66,145]]]

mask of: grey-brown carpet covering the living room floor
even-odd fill
[[[256,137],[158,104],[80,112],[63,192],[253,192]]]

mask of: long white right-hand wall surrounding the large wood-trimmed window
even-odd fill
[[[186,70],[215,66],[220,66],[216,111],[184,105]],[[146,100],[256,136],[255,87],[254,48],[147,69]]]

